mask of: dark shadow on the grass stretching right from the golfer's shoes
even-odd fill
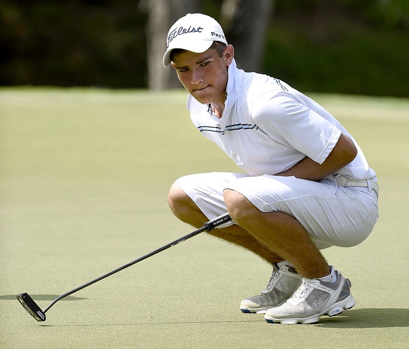
[[[408,327],[409,309],[366,308],[351,309],[334,317],[322,317],[317,327],[344,329],[376,329]]]

